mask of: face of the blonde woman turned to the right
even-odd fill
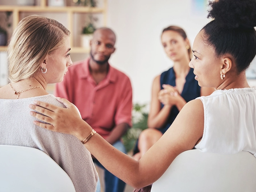
[[[46,59],[47,72],[45,74],[48,80],[47,83],[59,83],[63,80],[63,76],[68,71],[68,66],[73,64],[69,51],[70,44],[69,38],[67,37],[65,43],[59,49],[48,54]]]

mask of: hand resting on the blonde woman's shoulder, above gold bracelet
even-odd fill
[[[79,140],[83,140],[82,130],[84,131],[85,128],[88,128],[88,132],[91,132],[92,128],[81,118],[75,105],[66,99],[58,98],[58,100],[66,108],[42,101],[34,101],[35,105],[30,104],[28,107],[38,112],[30,111],[30,115],[48,124],[39,121],[34,121],[33,123],[51,131],[72,134]]]

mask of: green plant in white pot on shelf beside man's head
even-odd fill
[[[89,23],[82,29],[82,47],[85,49],[90,48],[90,40],[92,39],[93,32],[96,30],[95,26],[93,25],[93,20],[97,19],[89,16]]]

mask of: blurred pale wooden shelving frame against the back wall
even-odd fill
[[[12,5],[1,5],[0,12],[11,11],[12,12],[12,27],[16,28],[20,21],[21,12],[63,12],[67,14],[68,18],[68,30],[71,33],[69,42],[71,46],[71,53],[89,53],[88,49],[83,47],[74,47],[74,13],[101,13],[103,14],[103,24],[106,26],[107,23],[107,0],[104,0],[103,8],[97,7],[86,7],[86,6],[65,6],[65,7],[50,7],[46,5],[46,0],[40,0],[39,6],[12,6]],[[5,46],[0,46],[0,51],[6,51]]]

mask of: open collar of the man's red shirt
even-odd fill
[[[89,60],[90,60],[90,57],[84,60],[82,64],[83,65],[82,70],[80,71],[80,74],[79,74],[80,78],[88,78],[89,76],[91,76],[90,70],[89,70]],[[106,76],[106,79],[109,82],[115,83],[117,80],[117,74],[115,72],[116,69],[111,67],[109,63],[108,63],[108,66],[109,66],[109,69],[108,69],[108,74]]]

